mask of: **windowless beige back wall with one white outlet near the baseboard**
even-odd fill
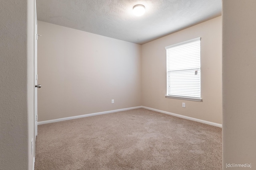
[[[42,21],[38,34],[38,121],[141,106],[140,45]]]

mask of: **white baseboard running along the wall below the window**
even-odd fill
[[[179,114],[171,113],[171,112],[168,112],[168,111],[162,111],[162,110],[158,110],[158,109],[153,109],[153,108],[150,108],[150,107],[142,106],[142,108],[148,109],[148,110],[153,110],[153,111],[158,111],[158,112],[160,112],[160,113],[164,113],[164,114],[168,114],[168,115],[180,117],[180,118],[183,118],[183,119],[188,119],[188,120],[192,120],[192,121],[197,121],[197,122],[204,123],[204,124],[207,124],[207,125],[212,125],[212,126],[216,126],[216,127],[222,128],[222,124],[213,123],[213,122],[205,121],[205,120],[201,120],[201,119],[196,119],[196,118],[188,117],[188,116],[184,116],[184,115],[179,115]]]

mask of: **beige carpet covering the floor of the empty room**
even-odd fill
[[[142,108],[39,125],[35,170],[221,170],[221,131]]]

